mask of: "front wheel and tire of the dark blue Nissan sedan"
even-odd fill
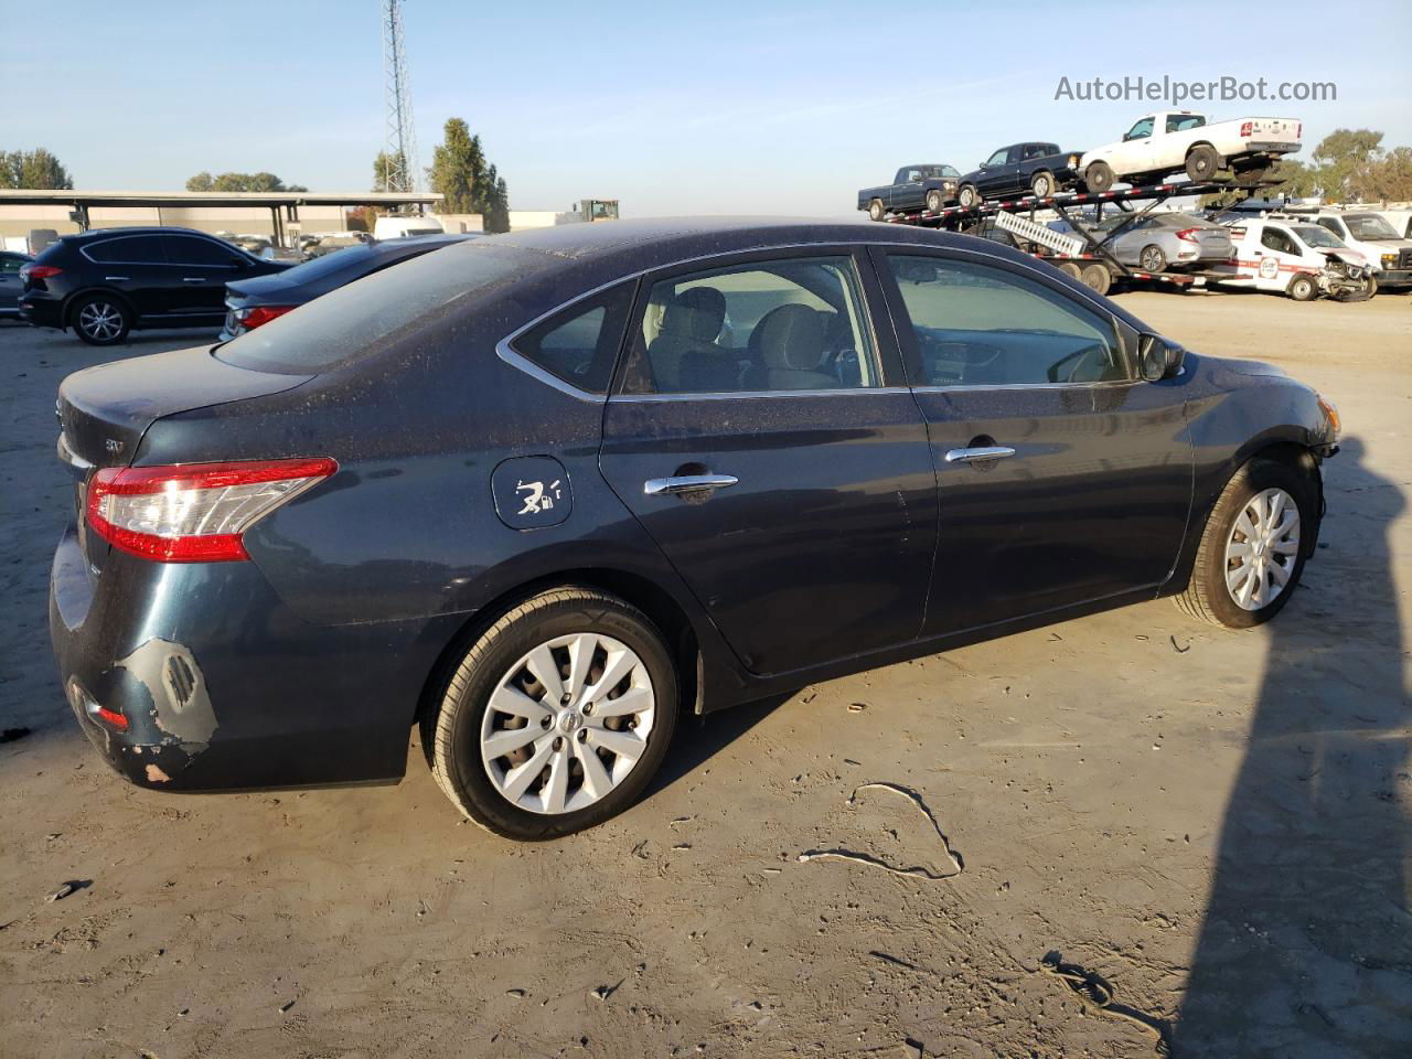
[[[1237,535],[1245,537],[1244,532],[1238,532],[1243,525],[1260,528],[1261,522],[1251,511],[1258,507],[1269,513],[1269,498],[1275,491],[1284,494],[1281,514],[1261,537],[1255,538],[1269,541],[1258,549],[1265,556],[1267,566],[1257,565],[1241,578],[1240,570],[1245,566],[1233,565],[1241,563],[1241,559],[1231,556],[1228,545],[1237,545]],[[1257,498],[1261,498],[1258,504]],[[1262,457],[1245,463],[1227,483],[1206,520],[1192,580],[1186,590],[1175,597],[1178,606],[1195,618],[1227,628],[1250,628],[1269,621],[1289,602],[1303,573],[1309,542],[1315,539],[1317,503],[1317,490],[1289,463]],[[1292,537],[1288,531],[1271,537],[1279,532],[1281,520],[1288,525],[1286,513],[1291,504],[1296,515]],[[1276,575],[1272,569],[1275,566],[1284,573]],[[1258,585],[1267,593],[1264,602],[1257,596],[1260,589],[1251,587],[1257,570]],[[1279,576],[1284,576],[1282,582]],[[1234,587],[1230,582],[1234,582]],[[1248,597],[1241,603],[1238,594]]]

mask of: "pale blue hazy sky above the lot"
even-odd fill
[[[363,191],[383,145],[378,0],[0,0],[0,147],[45,145],[80,188],[181,188],[267,169]],[[842,215],[904,162],[1003,144],[1082,150],[1139,102],[1056,102],[1072,80],[1333,80],[1334,103],[1187,104],[1412,144],[1412,3],[407,0],[421,161],[465,117],[514,209],[621,199],[624,216]],[[994,17],[988,11],[994,10]],[[1330,17],[1330,13],[1336,13]],[[1031,25],[1032,28],[1027,28]],[[1008,41],[1005,44],[1004,41]],[[1305,155],[1308,157],[1308,148]]]

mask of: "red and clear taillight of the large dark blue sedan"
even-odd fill
[[[328,457],[106,467],[89,483],[88,522],[144,559],[249,559],[241,534],[337,467]]]

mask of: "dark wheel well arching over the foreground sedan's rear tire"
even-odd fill
[[[609,592],[647,614],[652,620],[652,624],[662,631],[666,647],[676,661],[676,672],[682,683],[681,702],[683,705],[690,703],[692,709],[700,713],[699,648],[696,644],[696,630],[692,628],[686,613],[668,592],[664,592],[647,578],[623,570],[590,568],[561,570],[537,578],[525,585],[518,585],[501,593],[467,618],[436,658],[435,665],[432,665],[426,682],[422,685],[422,693],[417,702],[417,714],[412,717],[412,723],[417,724],[436,709],[452,674],[460,665],[462,657],[486,628],[493,626],[505,611],[514,610],[531,596],[562,587],[589,587]]]

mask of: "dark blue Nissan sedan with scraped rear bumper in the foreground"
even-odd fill
[[[990,241],[573,225],[59,391],[49,623],[164,789],[395,781],[542,839],[682,719],[1176,596],[1271,618],[1337,418]]]

